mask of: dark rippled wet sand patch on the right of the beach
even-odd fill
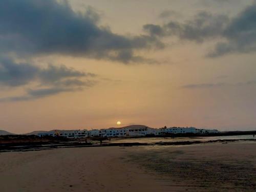
[[[148,146],[137,148],[127,161],[166,176],[166,182],[181,191],[256,191],[253,141]]]

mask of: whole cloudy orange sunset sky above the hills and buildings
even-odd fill
[[[255,130],[255,53],[253,0],[1,0],[0,130]]]

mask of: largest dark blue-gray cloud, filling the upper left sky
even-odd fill
[[[0,51],[20,56],[67,54],[127,63],[143,61],[133,50],[163,46],[150,35],[115,34],[98,26],[98,20],[92,8],[76,13],[68,3],[56,0],[2,0]]]

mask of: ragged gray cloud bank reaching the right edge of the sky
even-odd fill
[[[248,6],[235,17],[198,13],[185,22],[171,20],[165,25],[144,25],[144,30],[154,37],[176,36],[181,40],[203,42],[217,39],[219,42],[207,56],[256,51],[256,3]],[[223,40],[220,40],[223,39]]]

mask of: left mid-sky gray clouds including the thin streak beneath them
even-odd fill
[[[93,73],[80,72],[63,65],[39,68],[31,63],[18,63],[10,58],[0,58],[0,85],[10,88],[22,87],[26,91],[22,96],[0,98],[0,102],[32,100],[61,92],[81,91],[97,83],[96,80],[90,79],[95,76]]]

